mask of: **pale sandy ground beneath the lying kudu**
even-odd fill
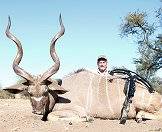
[[[41,116],[31,112],[29,100],[0,100],[0,132],[162,132],[162,120],[136,123],[127,120],[95,119],[93,122],[41,121]]]

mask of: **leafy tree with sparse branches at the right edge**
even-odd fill
[[[159,15],[158,15],[159,17]],[[134,60],[136,71],[146,79],[162,68],[162,37],[155,37],[158,26],[149,23],[146,12],[130,12],[121,24],[121,36],[137,39],[139,58]]]

